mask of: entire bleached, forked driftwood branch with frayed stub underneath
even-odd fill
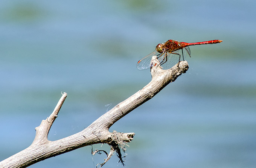
[[[151,63],[151,65],[159,64],[155,56],[152,57]],[[137,93],[125,101],[120,102],[81,132],[56,141],[49,141],[47,136],[50,127],[56,119],[59,110],[67,97],[67,93],[63,93],[53,113],[46,118],[46,120],[43,120],[40,126],[35,128],[36,135],[32,144],[19,153],[0,162],[0,168],[27,167],[49,157],[98,143],[107,143],[110,145],[110,153],[107,154],[107,159],[105,159],[105,162],[107,162],[114,151],[119,154],[120,148],[123,148],[123,144],[133,140],[133,136],[135,135],[135,133],[119,133],[116,131],[109,132],[108,129],[110,126],[144,102],[151,99],[166,85],[175,81],[178,76],[185,73],[188,68],[189,66],[186,61],[181,61],[176,66],[168,70],[162,70],[160,66],[152,66],[151,82]],[[122,161],[122,157],[119,156],[119,158]],[[104,165],[105,162],[102,163],[101,166]]]

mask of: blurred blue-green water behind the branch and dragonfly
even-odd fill
[[[187,73],[110,131],[136,133],[126,168],[254,168],[255,9],[252,0],[0,1],[0,160],[32,143],[61,92],[52,141],[145,86],[150,72],[136,63],[158,43],[218,39],[191,46]],[[88,146],[30,167],[93,168],[104,158]],[[113,156],[104,167],[122,165]]]

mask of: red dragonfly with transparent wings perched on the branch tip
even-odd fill
[[[178,42],[176,40],[168,40],[165,43],[159,43],[155,47],[154,52],[139,60],[137,63],[137,68],[139,70],[151,68],[153,66],[150,65],[151,58],[153,55],[157,55],[160,66],[162,66],[163,69],[170,69],[172,66],[180,62],[181,57],[184,60],[186,54],[189,54],[189,57],[191,57],[189,49],[190,45],[215,44],[220,42],[222,42],[222,40],[210,40],[197,43],[185,43]]]

